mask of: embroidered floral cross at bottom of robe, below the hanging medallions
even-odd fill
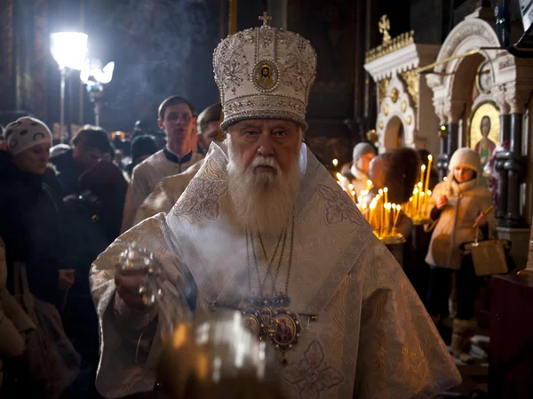
[[[344,380],[343,375],[324,359],[322,346],[314,340],[306,348],[304,359],[280,369],[280,376],[298,388],[300,399],[318,399],[324,389],[337,387]]]

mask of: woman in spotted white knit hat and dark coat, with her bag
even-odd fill
[[[56,398],[76,378],[79,356],[63,331],[57,308],[74,283],[74,271],[65,260],[60,186],[48,167],[52,133],[43,122],[22,117],[6,126],[4,140],[0,236],[5,243],[7,289],[36,325],[26,337],[27,373],[18,376],[18,395]]]

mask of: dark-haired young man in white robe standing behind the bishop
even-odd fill
[[[158,110],[159,128],[166,133],[166,146],[138,164],[126,195],[122,231],[133,226],[139,206],[163,178],[187,171],[203,159],[196,151],[195,116],[189,102],[179,96],[163,100]]]

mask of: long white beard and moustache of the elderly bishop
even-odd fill
[[[242,233],[251,232],[271,237],[282,234],[292,222],[300,188],[298,156],[295,156],[288,176],[282,174],[274,157],[257,156],[247,169],[243,169],[229,136],[227,144],[227,179],[235,206],[235,226]],[[276,172],[257,171],[255,167],[258,165],[272,166]]]

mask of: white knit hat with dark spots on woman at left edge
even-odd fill
[[[39,144],[52,144],[52,132],[36,118],[24,116],[5,126],[4,139],[12,156]]]

